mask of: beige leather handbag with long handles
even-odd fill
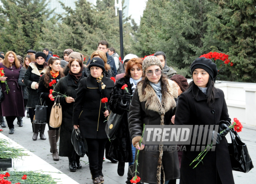
[[[62,109],[60,103],[60,97],[57,96],[52,106],[51,115],[50,115],[50,127],[57,128],[60,127],[62,123]]]

